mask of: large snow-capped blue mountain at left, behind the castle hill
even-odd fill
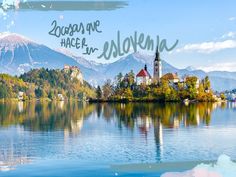
[[[0,34],[0,72],[19,75],[33,68],[62,69],[65,64],[78,66],[85,79],[95,82],[95,70],[73,57],[14,33]]]

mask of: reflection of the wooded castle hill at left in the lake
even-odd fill
[[[83,103],[11,103],[0,104],[0,126],[23,126],[30,131],[65,130],[78,134],[83,120],[94,110]]]

